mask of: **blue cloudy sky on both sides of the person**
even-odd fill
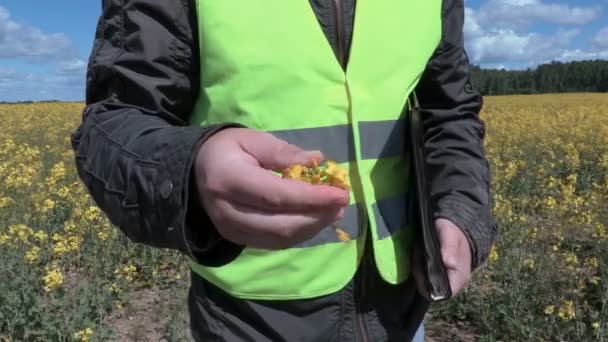
[[[167,0],[150,0],[167,1]],[[465,0],[474,64],[608,59],[608,0]],[[83,100],[99,0],[0,2],[0,101]]]

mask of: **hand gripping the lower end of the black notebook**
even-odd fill
[[[452,221],[444,218],[436,219],[435,229],[439,236],[441,256],[450,280],[452,297],[454,297],[471,280],[471,248],[462,230]],[[421,257],[420,254],[417,257]],[[415,260],[414,265],[420,265],[420,263]],[[428,298],[423,277],[422,272],[414,269],[418,291]]]

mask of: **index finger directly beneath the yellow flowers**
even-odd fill
[[[252,165],[228,168],[217,187],[228,201],[275,212],[304,212],[325,207],[343,207],[349,192],[329,185],[313,185],[284,179]]]

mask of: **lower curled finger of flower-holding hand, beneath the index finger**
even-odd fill
[[[226,238],[250,247],[281,249],[306,241],[344,216],[344,210],[277,214],[218,200],[210,213]],[[223,229],[225,228],[225,229]]]

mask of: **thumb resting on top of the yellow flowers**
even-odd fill
[[[240,146],[263,168],[282,171],[294,164],[310,166],[314,162],[321,163],[323,160],[321,151],[302,150],[266,132],[251,132],[251,134],[251,137],[245,136],[239,140]]]

